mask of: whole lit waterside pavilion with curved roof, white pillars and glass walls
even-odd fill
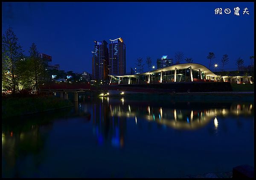
[[[196,63],[176,64],[173,66],[134,75],[109,75],[112,84],[150,84],[166,82],[217,81],[218,75],[207,67]],[[112,78],[112,77],[115,77]],[[228,82],[228,76],[221,77]],[[242,78],[239,76],[239,78]],[[249,81],[251,76],[248,76]],[[112,81],[113,80],[113,81]],[[221,80],[220,80],[221,81]],[[250,81],[251,82],[251,81]]]

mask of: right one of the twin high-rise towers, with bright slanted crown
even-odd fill
[[[111,40],[109,44],[109,74],[124,75],[126,73],[125,43],[122,38]]]

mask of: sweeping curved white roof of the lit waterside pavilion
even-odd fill
[[[210,71],[207,67],[205,67],[202,64],[197,64],[197,63],[183,63],[183,64],[175,64],[169,67],[164,67],[161,69],[157,69],[157,70],[152,70],[152,71],[148,71],[145,73],[139,73],[139,74],[133,74],[133,75],[109,75],[109,76],[115,76],[115,77],[133,77],[133,78],[137,78],[139,75],[148,75],[148,74],[153,74],[153,73],[160,73],[161,71],[170,71],[170,70],[175,70],[175,67],[179,70],[179,69],[186,69],[191,67],[193,70],[201,70],[204,71],[204,73],[207,74],[207,76],[211,76],[211,77],[216,77],[217,75],[215,75],[214,73],[212,73],[212,71]]]

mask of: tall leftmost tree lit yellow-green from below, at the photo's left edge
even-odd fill
[[[9,27],[2,36],[2,91],[17,93],[17,61],[23,58],[23,50],[18,38]]]

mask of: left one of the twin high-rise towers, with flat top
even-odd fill
[[[108,78],[108,43],[104,41],[94,41],[93,51],[93,80],[105,80]]]

